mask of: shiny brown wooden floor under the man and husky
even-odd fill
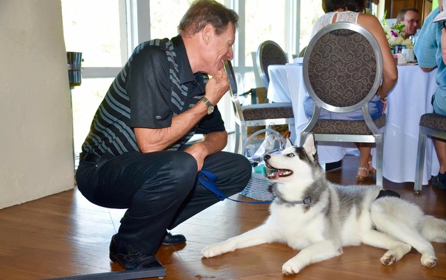
[[[341,170],[327,173],[332,182],[354,184],[357,157],[346,156]],[[369,182],[370,183],[370,182]],[[31,187],[31,186],[30,186]],[[429,215],[446,219],[446,190],[424,186],[415,196],[413,183],[394,189]],[[245,199],[238,194],[236,199]],[[249,199],[247,199],[249,200]],[[121,270],[109,261],[109,241],[123,210],[100,208],[77,189],[0,210],[0,279],[47,279],[75,274]],[[433,243],[438,257],[431,269],[410,251],[386,267],[385,253],[366,245],[344,248],[344,254],[311,265],[298,275],[283,276],[282,264],[295,256],[284,244],[263,244],[210,259],[201,259],[207,244],[231,238],[255,226],[268,215],[268,205],[222,201],[174,229],[187,244],[163,246],[157,258],[167,268],[166,279],[446,279],[446,244]]]

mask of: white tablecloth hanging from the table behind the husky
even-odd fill
[[[392,182],[414,182],[415,161],[420,116],[433,111],[431,96],[438,87],[436,70],[423,72],[417,65],[399,65],[399,79],[387,98],[387,123],[384,128],[383,176]],[[270,102],[291,102],[295,118],[296,139],[307,125],[303,110],[307,93],[302,77],[302,65],[270,65],[268,67]],[[351,143],[318,143],[321,164],[337,162],[354,150]],[[372,152],[373,153],[373,152]],[[431,175],[437,175],[438,159],[431,139],[426,141],[423,185]]]

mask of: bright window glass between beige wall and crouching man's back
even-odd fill
[[[82,52],[82,68],[98,68],[92,79],[71,91],[75,154],[89,133],[91,120],[107,93],[112,77],[100,68],[121,68],[127,61],[125,0],[61,0],[63,34],[67,52]],[[123,35],[122,35],[123,34]]]

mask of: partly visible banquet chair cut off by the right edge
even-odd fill
[[[417,163],[415,166],[415,194],[422,189],[424,155],[426,154],[426,137],[446,139],[446,117],[435,113],[424,114],[420,118],[420,132],[418,132]]]

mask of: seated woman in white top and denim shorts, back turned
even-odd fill
[[[369,102],[371,118],[378,118],[385,109],[387,93],[393,88],[398,79],[397,65],[394,63],[383,27],[374,15],[363,13],[365,10],[364,0],[322,0],[322,8],[325,15],[320,17],[313,26],[312,36],[328,24],[334,22],[353,22],[364,26],[378,41],[383,53],[383,81],[378,88],[375,97]],[[304,101],[305,114],[310,118],[314,111],[314,101],[307,96]],[[363,120],[362,111],[358,109],[350,113],[332,113],[321,109],[319,118],[334,120]],[[356,143],[360,150],[360,166],[357,170],[356,179],[368,180],[376,170],[371,165],[371,144]]]

